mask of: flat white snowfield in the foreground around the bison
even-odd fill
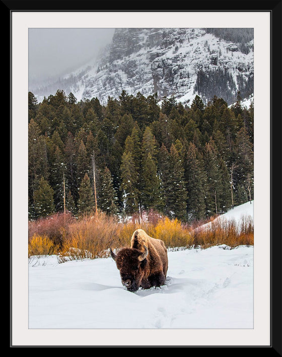
[[[168,258],[166,285],[132,293],[111,258],[31,257],[29,329],[253,328],[253,247],[169,251]]]

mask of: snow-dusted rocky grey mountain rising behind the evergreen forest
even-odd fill
[[[214,29],[215,30],[215,29]],[[183,104],[196,94],[207,101],[214,95],[230,105],[237,91],[253,93],[253,34],[251,29],[227,33],[204,28],[117,28],[112,43],[98,60],[52,83],[29,90],[40,101],[62,89],[78,100],[108,96],[122,90],[145,96],[157,92]]]

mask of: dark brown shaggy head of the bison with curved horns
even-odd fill
[[[117,254],[110,249],[110,253],[116,262],[122,284],[128,291],[137,291],[148,265],[148,249],[145,247],[145,252],[142,252],[135,248],[123,248]]]

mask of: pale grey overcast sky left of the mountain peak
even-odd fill
[[[59,76],[95,57],[112,39],[111,28],[30,28],[29,79]]]

